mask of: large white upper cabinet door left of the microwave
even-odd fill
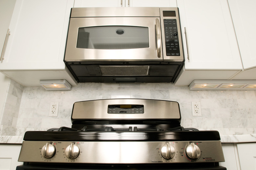
[[[17,0],[0,70],[64,70],[74,0]]]

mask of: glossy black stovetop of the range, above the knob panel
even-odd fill
[[[116,129],[106,127],[96,131],[88,131],[86,128],[82,130],[63,130],[55,131],[27,131],[24,140],[41,140],[41,141],[192,141],[192,140],[220,140],[218,131],[191,131],[193,128],[183,128],[181,130],[149,130],[130,127],[127,129]],[[132,131],[132,129],[135,129]],[[116,131],[113,131],[116,130]],[[131,130],[131,131],[129,131]]]

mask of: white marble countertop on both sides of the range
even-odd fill
[[[23,136],[0,136],[0,143],[16,143],[21,144]],[[256,134],[248,135],[221,135],[222,143],[243,143],[256,142]]]

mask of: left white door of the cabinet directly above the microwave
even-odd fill
[[[125,0],[75,0],[74,8],[81,7],[125,7]]]

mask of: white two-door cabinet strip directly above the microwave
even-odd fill
[[[177,7],[176,0],[75,0],[79,7]]]

